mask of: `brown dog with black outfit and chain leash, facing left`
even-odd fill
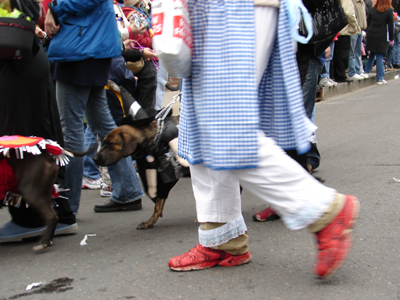
[[[173,116],[169,119],[166,127],[177,128],[178,124],[179,117]],[[157,134],[157,121],[152,121],[145,126],[122,125],[107,134],[104,138],[103,146],[100,148],[99,152],[93,156],[95,163],[100,166],[114,165],[120,159],[129,155],[132,155],[136,160],[144,190],[149,198],[155,202],[152,216],[146,222],[140,223],[137,229],[151,228],[157,222],[158,218],[162,217],[168,194],[179,180],[180,175],[176,174],[176,165],[175,168],[171,164],[169,164],[169,167],[165,167],[165,165],[168,164],[165,164],[166,160],[164,158],[166,158],[166,156],[163,154],[171,149],[173,151],[172,153],[174,153],[175,161],[180,164],[179,168],[182,169],[181,171],[183,171],[183,173],[188,172],[187,162],[176,155],[177,129],[175,130],[176,134],[173,134],[172,137],[168,136],[168,134],[162,134],[159,144],[154,145],[154,138]],[[151,158],[150,160],[154,159],[154,162],[149,163],[149,157]],[[161,169],[165,169],[166,172],[160,172]],[[149,182],[149,171],[154,171],[156,173],[156,192],[155,189],[152,191],[152,184]],[[169,175],[165,176],[166,173],[169,173]]]

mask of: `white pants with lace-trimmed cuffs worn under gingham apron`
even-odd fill
[[[255,9],[258,83],[273,47],[277,15],[276,8]],[[325,213],[336,191],[320,184],[261,131],[258,155],[256,169],[215,171],[203,164],[190,166],[199,222],[228,223],[241,218],[240,184],[268,202],[289,229],[304,228]]]

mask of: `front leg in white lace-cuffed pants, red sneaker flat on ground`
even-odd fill
[[[250,262],[239,181],[229,172],[203,164],[191,165],[190,174],[200,223],[199,244],[171,258],[168,266],[173,271],[191,271]]]

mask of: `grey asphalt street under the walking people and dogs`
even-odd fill
[[[331,278],[314,277],[307,230],[252,220],[266,204],[248,190],[242,206],[253,261],[169,270],[172,256],[197,244],[190,178],[182,178],[153,229],[136,230],[153,211],[147,197],[141,211],[95,213],[105,199],[84,190],[78,234],[56,237],[41,254],[32,251],[37,241],[0,244],[0,299],[400,299],[400,81],[319,102],[315,123],[322,161],[314,175],[361,202],[353,249]],[[0,224],[9,218],[0,210]]]

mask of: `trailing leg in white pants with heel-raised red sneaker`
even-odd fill
[[[258,168],[230,173],[245,189],[269,202],[289,229],[308,227],[318,243],[314,271],[321,278],[332,275],[351,248],[357,198],[319,183],[262,132],[258,153]]]

